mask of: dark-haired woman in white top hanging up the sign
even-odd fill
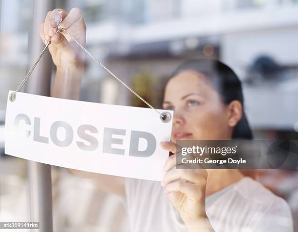
[[[86,26],[79,9],[62,10],[61,26],[82,44]],[[55,22],[40,24],[40,37],[57,67],[53,97],[78,99],[83,62],[80,48],[64,33],[54,35]],[[173,73],[163,107],[175,111],[172,142],[161,146],[172,152],[163,181],[148,181],[73,171],[93,180],[104,191],[127,198],[131,231],[148,232],[292,232],[287,203],[238,170],[175,169],[175,141],[183,139],[251,139],[243,114],[241,83],[218,61],[190,60]],[[103,188],[104,186],[104,188]]]

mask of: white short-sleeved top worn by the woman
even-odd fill
[[[125,191],[130,232],[187,232],[159,181],[126,178]],[[250,177],[206,197],[206,214],[215,232],[293,232],[289,205]]]

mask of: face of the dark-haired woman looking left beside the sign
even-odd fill
[[[230,139],[229,107],[211,82],[195,71],[182,71],[166,86],[163,108],[174,110],[171,140]]]

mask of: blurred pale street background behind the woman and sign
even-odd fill
[[[34,62],[33,5],[0,0],[0,221],[29,220],[26,161],[4,155],[4,121],[8,90]],[[217,58],[242,80],[255,138],[298,139],[298,0],[56,0],[55,7],[80,8],[87,49],[154,106],[179,63]],[[85,66],[81,100],[144,106],[92,59]],[[298,232],[298,172],[252,175],[290,204]],[[53,167],[52,179],[54,231],[128,231],[124,199],[63,168]]]

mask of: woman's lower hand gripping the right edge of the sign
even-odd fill
[[[161,147],[174,155],[168,157],[161,182],[168,200],[175,207],[189,231],[213,231],[205,212],[205,169],[176,169],[176,144],[162,142]]]

